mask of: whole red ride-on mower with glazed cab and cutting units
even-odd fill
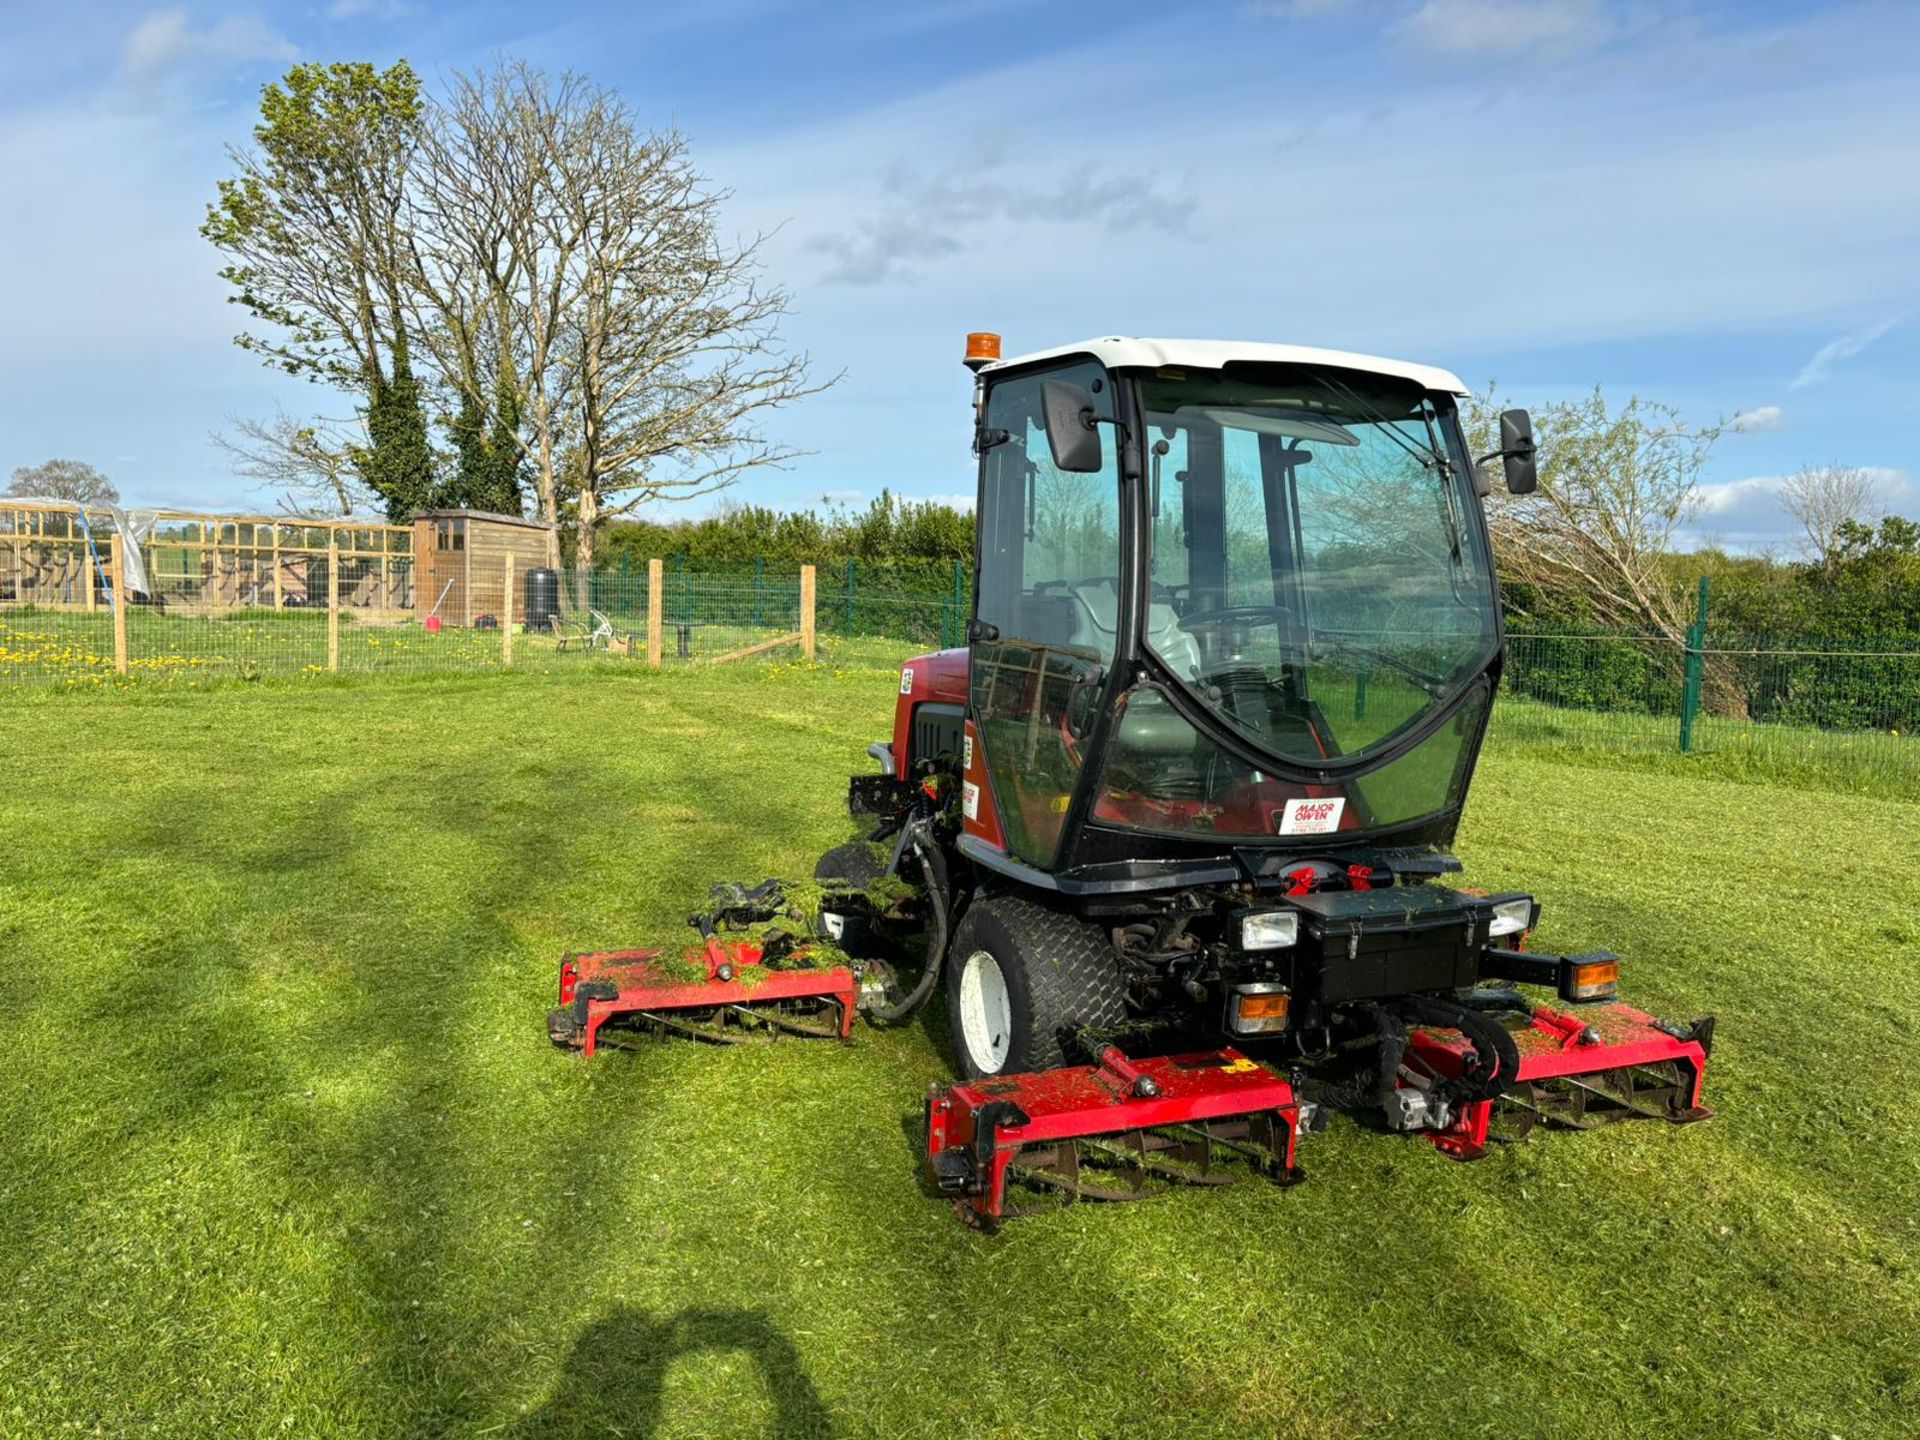
[[[1480,467],[1536,488],[1526,413],[1476,459],[1465,388],[1425,365],[1125,338],[1002,361],[975,334],[968,367],[968,645],[902,666],[860,835],[808,904],[697,916],[687,973],[570,958],[555,1039],[766,1012],[845,1037],[945,977],[925,1173],[989,1227],[1014,1181],[1294,1181],[1332,1110],[1461,1160],[1705,1119],[1711,1018],[1617,1002],[1619,956],[1534,952],[1532,897],[1444,883],[1503,647]],[[720,939],[776,912],[772,950]]]

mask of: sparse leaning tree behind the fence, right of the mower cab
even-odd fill
[[[1503,401],[1469,403],[1475,451],[1496,447]],[[1670,405],[1607,407],[1599,388],[1534,409],[1540,490],[1490,497],[1501,572],[1582,601],[1594,618],[1686,643],[1688,597],[1665,561],[1699,511],[1699,474],[1720,426],[1690,428]]]

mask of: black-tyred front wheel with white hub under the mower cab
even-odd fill
[[[960,920],[947,1021],[962,1079],[1058,1069],[1075,1031],[1125,1018],[1119,964],[1096,925],[1012,895],[977,900]]]

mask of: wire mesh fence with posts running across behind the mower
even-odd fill
[[[449,674],[593,662],[887,666],[966,643],[960,566],[862,570],[666,559],[476,578],[461,622],[399,555],[307,555],[273,586],[150,564],[123,611],[108,574],[71,597],[0,597],[0,689],[326,674]],[[257,576],[255,576],[257,578]],[[655,659],[657,657],[657,659]],[[1380,674],[1373,689],[1390,687]],[[1369,705],[1369,678],[1323,705]],[[1375,701],[1379,697],[1375,695]],[[1920,795],[1920,636],[1876,641],[1690,634],[1507,636],[1494,741],[1713,755]]]

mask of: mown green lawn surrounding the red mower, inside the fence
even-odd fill
[[[1540,941],[1718,1119],[998,1238],[935,1021],[591,1064],[563,948],[837,841],[885,670],[0,699],[0,1434],[1910,1436],[1920,804],[1496,747]]]

